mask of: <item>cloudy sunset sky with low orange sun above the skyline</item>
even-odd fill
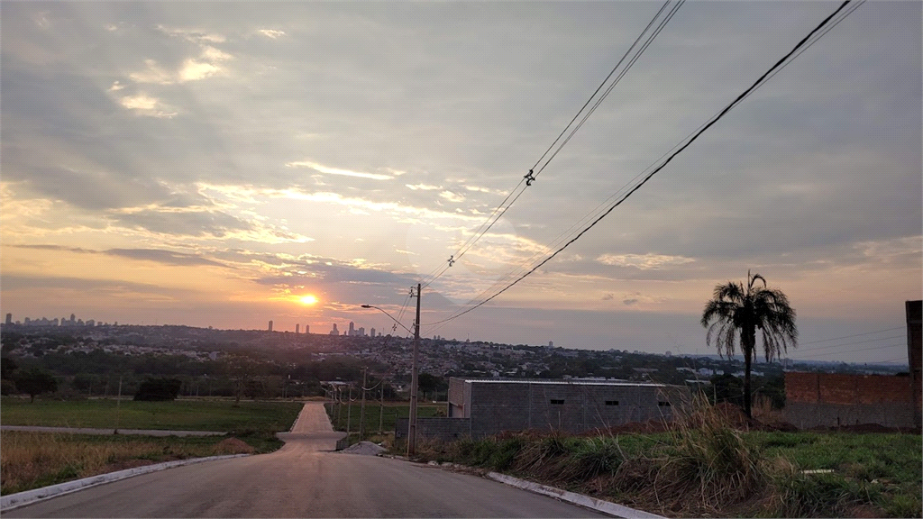
[[[409,328],[409,288],[661,5],[4,2],[0,312],[390,332],[368,304]],[[553,252],[836,6],[681,6],[426,285],[423,335],[704,355],[714,286],[752,271],[797,311],[789,357],[905,362],[923,291],[918,2],[860,6],[555,259],[430,324]]]

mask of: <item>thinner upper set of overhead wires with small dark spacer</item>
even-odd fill
[[[600,96],[599,99],[596,101],[596,103],[593,105],[593,108],[591,108],[590,111],[587,112],[583,116],[583,119],[581,120],[580,124],[578,124],[576,127],[574,127],[571,130],[568,138],[565,139],[564,142],[562,142],[560,146],[558,146],[557,151],[555,151],[555,153],[552,154],[552,156],[545,162],[545,164],[542,165],[542,167],[538,170],[538,173],[533,175],[533,170],[538,166],[539,163],[542,162],[542,160],[545,158],[548,152],[551,151],[555,147],[555,144],[557,144],[558,140],[561,139],[561,137],[568,131],[569,127],[573,125],[574,121],[577,120],[577,118],[581,115],[581,113],[583,113],[586,107],[593,101],[593,98],[596,97],[596,94],[598,94],[599,91],[603,89],[606,82],[608,82],[608,80],[612,78],[612,75],[616,72],[618,67],[621,66],[622,63],[625,62],[625,59],[629,56],[629,54],[631,54],[631,51],[638,45],[638,42],[641,42],[641,38],[643,38],[644,35],[647,34],[648,30],[651,29],[651,27],[653,26],[657,18],[660,18],[660,15],[663,14],[664,9],[666,8],[666,6],[670,4],[671,1],[672,0],[666,0],[664,5],[660,7],[657,13],[653,16],[653,18],[651,18],[651,21],[648,22],[644,30],[641,31],[641,34],[638,35],[638,38],[636,38],[635,41],[631,43],[629,50],[626,51],[625,54],[622,55],[621,59],[618,60],[618,63],[616,64],[616,66],[612,68],[612,70],[605,77],[603,82],[600,83],[599,87],[597,87],[596,90],[593,91],[593,95],[591,95],[590,98],[586,101],[586,103],[583,104],[581,109],[577,112],[576,115],[574,115],[573,119],[570,120],[568,125],[564,127],[563,130],[561,130],[561,133],[557,136],[557,139],[555,139],[554,142],[551,143],[551,146],[549,146],[548,149],[545,151],[545,153],[543,153],[542,156],[538,159],[538,161],[535,162],[532,169],[529,170],[529,173],[520,180],[519,184],[517,184],[516,187],[513,187],[513,189],[509,191],[509,194],[507,194],[507,197],[503,199],[503,201],[500,202],[500,204],[497,206],[497,208],[494,209],[494,211],[491,212],[490,216],[487,217],[485,222],[481,223],[481,225],[478,226],[478,228],[474,231],[473,235],[471,235],[467,240],[465,240],[462,246],[459,247],[455,251],[455,253],[450,256],[446,264],[443,265],[442,267],[438,267],[433,272],[431,272],[429,275],[427,275],[426,278],[424,278],[424,280],[421,282],[424,286],[428,286],[429,284],[432,284],[434,281],[438,279],[439,276],[441,276],[444,272],[449,270],[449,268],[452,266],[452,263],[454,263],[458,259],[461,259],[462,256],[464,256],[465,253],[467,253],[468,250],[470,250],[471,247],[473,247],[474,244],[477,243],[477,241],[480,240],[481,237],[483,237],[487,233],[487,231],[489,231],[491,227],[493,227],[494,224],[497,223],[497,221],[499,221],[499,219],[503,216],[503,214],[506,213],[506,211],[508,211],[509,208],[512,207],[514,203],[516,203],[516,200],[518,200],[522,196],[522,193],[525,192],[526,187],[532,186],[532,182],[535,179],[535,176],[538,176],[539,174],[541,174],[541,172],[545,169],[548,163],[550,163],[551,160],[554,159],[555,155],[557,155],[558,151],[561,151],[561,149],[573,137],[574,133],[576,133],[577,130],[579,130],[580,127],[583,126],[583,123],[586,122],[587,118],[593,114],[596,108],[599,107],[599,104],[602,103],[603,100],[605,100],[605,97],[607,97],[609,93],[612,91],[612,89],[617,85],[618,81],[620,81],[621,78],[625,76],[629,68],[633,66],[635,62],[638,61],[638,58],[641,57],[641,54],[643,54],[643,52],[647,49],[647,47],[650,46],[651,42],[653,42],[653,39],[656,38],[657,35],[660,33],[660,31],[664,29],[666,23],[669,22],[670,18],[673,18],[673,16],[676,14],[679,7],[685,3],[685,0],[679,0],[677,5],[672,7],[672,9],[669,11],[667,16],[661,20],[657,28],[653,30],[653,32],[650,35],[648,35],[648,39],[643,43],[643,45],[641,46],[641,49],[636,54],[634,54],[634,56],[630,59],[629,65],[625,66],[622,69],[621,73],[619,73],[616,80],[613,81],[612,84],[608,86],[608,88],[605,90],[603,95]],[[525,184],[525,187],[522,187],[523,183]],[[516,193],[515,197],[513,197],[514,193]],[[507,204],[507,201],[510,199],[510,197],[513,197],[513,199],[509,201],[509,204]]]

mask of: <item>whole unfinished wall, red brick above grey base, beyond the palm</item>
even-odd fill
[[[785,373],[785,419],[797,428],[914,424],[913,380],[888,375]],[[917,389],[918,391],[918,389]]]

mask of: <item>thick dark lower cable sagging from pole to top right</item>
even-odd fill
[[[823,32],[821,32],[821,34],[817,37],[816,40],[811,41],[811,39],[814,37],[814,35],[817,34],[818,32],[820,32],[821,30],[823,30],[824,27],[830,22],[830,20],[833,19],[834,17],[836,17],[836,15],[838,15],[838,14],[844,9],[844,7],[847,6],[851,1],[852,1],[852,0],[845,0],[840,6],[838,6],[838,7],[836,8],[835,11],[833,11],[833,13],[832,13],[831,15],[829,15],[827,18],[824,18],[824,19],[821,21],[821,23],[820,23],[817,27],[815,27],[813,30],[811,30],[811,31],[808,33],[807,36],[805,36],[800,42],[797,42],[797,44],[795,45],[795,47],[793,47],[792,50],[788,52],[788,54],[785,54],[785,55],[784,55],[782,58],[780,58],[773,66],[771,66],[771,67],[769,68],[769,70],[767,70],[765,73],[763,73],[763,75],[762,75],[760,78],[758,78],[752,85],[750,85],[750,87],[749,87],[746,91],[743,91],[740,95],[737,96],[737,98],[736,98],[734,101],[732,101],[732,102],[729,103],[727,106],[725,106],[725,108],[724,108],[723,110],[721,110],[721,112],[719,112],[718,115],[713,116],[713,118],[712,118],[709,122],[707,122],[705,125],[703,125],[702,127],[700,127],[699,130],[698,130],[697,132],[695,132],[695,134],[694,134],[691,138],[689,138],[688,140],[686,140],[686,142],[685,142],[684,144],[682,144],[681,146],[679,146],[678,149],[677,149],[676,151],[673,151],[672,154],[670,154],[670,155],[665,159],[665,161],[664,161],[663,163],[660,163],[660,165],[658,165],[657,167],[655,167],[655,168],[653,169],[653,171],[651,171],[651,173],[649,173],[648,175],[644,176],[644,178],[641,180],[640,183],[638,183],[636,186],[632,187],[624,196],[622,196],[621,199],[618,199],[618,201],[617,201],[615,204],[611,205],[611,206],[610,206],[606,211],[604,211],[601,215],[597,216],[597,217],[593,220],[592,223],[590,223],[589,225],[585,226],[585,227],[581,230],[581,232],[580,232],[579,234],[577,234],[576,236],[574,236],[574,237],[572,237],[571,239],[569,239],[569,241],[568,241],[567,243],[565,243],[563,247],[559,247],[554,253],[552,253],[552,254],[551,254],[550,256],[548,256],[547,258],[543,259],[540,263],[538,263],[537,265],[535,265],[531,270],[529,270],[528,272],[525,272],[525,273],[522,274],[519,278],[517,278],[515,281],[513,281],[513,282],[510,283],[510,284],[507,284],[504,288],[502,288],[501,290],[499,290],[497,293],[495,293],[495,294],[492,295],[492,296],[489,296],[489,297],[485,298],[484,300],[482,300],[481,302],[477,303],[477,304],[474,305],[473,307],[464,309],[464,310],[462,310],[462,311],[460,311],[460,312],[457,312],[457,313],[453,314],[452,316],[450,316],[450,317],[447,318],[447,319],[438,320],[438,321],[435,321],[435,322],[431,322],[431,323],[426,324],[426,325],[424,325],[424,326],[433,326],[433,325],[441,324],[441,323],[444,323],[444,322],[448,322],[448,321],[450,321],[450,320],[457,319],[457,318],[459,318],[459,317],[462,317],[462,315],[464,315],[464,314],[466,314],[466,313],[472,311],[473,309],[479,308],[479,307],[481,307],[482,305],[485,305],[485,303],[487,303],[487,302],[489,302],[490,300],[494,299],[495,297],[497,297],[497,296],[503,294],[504,292],[506,292],[507,290],[509,290],[509,288],[512,288],[513,286],[515,286],[516,284],[518,284],[519,282],[521,282],[523,279],[525,279],[526,277],[528,277],[530,274],[532,274],[533,272],[535,272],[536,270],[538,270],[540,267],[542,267],[543,265],[545,265],[545,263],[547,263],[547,262],[550,261],[551,259],[555,258],[555,257],[557,256],[557,254],[559,254],[561,251],[563,251],[564,249],[566,249],[567,247],[569,247],[570,244],[572,244],[572,243],[574,243],[575,241],[577,241],[578,239],[580,239],[581,236],[584,235],[584,234],[586,234],[586,232],[589,231],[590,229],[592,229],[593,226],[596,225],[596,223],[599,223],[600,221],[602,221],[606,216],[608,216],[608,214],[609,214],[610,212],[614,211],[619,205],[621,205],[622,202],[624,202],[626,199],[629,199],[629,197],[630,197],[632,194],[634,194],[638,189],[640,189],[644,184],[646,184],[646,183],[653,177],[653,175],[656,175],[658,172],[660,172],[660,170],[664,169],[665,166],[666,166],[666,164],[670,163],[679,153],[681,153],[682,151],[684,151],[684,150],[686,150],[687,148],[689,148],[689,145],[691,145],[692,142],[694,142],[696,139],[699,139],[699,137],[701,136],[702,133],[705,132],[705,130],[707,130],[709,127],[712,127],[716,122],[718,122],[719,120],[721,120],[728,112],[730,112],[735,106],[737,106],[737,104],[741,103],[744,99],[746,99],[746,98],[749,96],[750,93],[752,93],[753,91],[755,91],[755,90],[757,90],[758,88],[760,88],[761,85],[764,84],[769,78],[772,78],[772,76],[775,74],[775,72],[777,72],[777,70],[781,70],[781,68],[782,68],[783,66],[786,65],[786,62],[790,62],[790,61],[789,61],[790,59],[791,59],[791,60],[794,60],[795,58],[797,58],[797,55],[800,55],[801,52],[803,52],[803,51],[801,51],[802,48],[807,48],[806,45],[807,45],[807,46],[812,45],[814,42],[817,42],[817,40],[819,40],[824,34],[826,34],[827,32],[829,32],[829,29],[832,29],[833,26],[831,26],[828,30],[824,30]],[[864,1],[864,0],[863,0],[863,1]],[[861,3],[860,3],[859,5],[861,5]],[[845,14],[845,16],[848,16],[849,14],[851,14],[851,13],[852,13],[853,11],[855,11],[855,10],[856,10],[856,8],[851,9],[850,11],[848,11],[848,12]],[[845,16],[844,16],[844,18],[845,18]],[[838,19],[835,23],[839,23],[840,21],[842,21],[842,19],[843,19],[843,18]],[[801,51],[801,52],[799,52],[799,51]],[[794,56],[794,57],[793,57],[793,56]],[[682,142],[682,141],[681,141],[681,142]],[[676,148],[676,147],[675,147],[675,148]]]

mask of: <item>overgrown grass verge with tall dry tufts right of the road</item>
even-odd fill
[[[667,516],[923,516],[918,434],[746,432],[730,420],[700,403],[663,433],[505,433],[417,451]]]

